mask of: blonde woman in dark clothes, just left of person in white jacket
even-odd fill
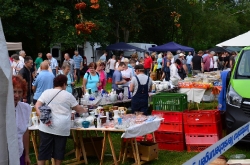
[[[163,79],[165,76],[166,81],[170,80],[170,65],[172,64],[171,62],[172,59],[173,59],[173,54],[170,51],[168,51],[166,56],[162,60],[162,68],[164,74],[162,75],[161,79]]]

